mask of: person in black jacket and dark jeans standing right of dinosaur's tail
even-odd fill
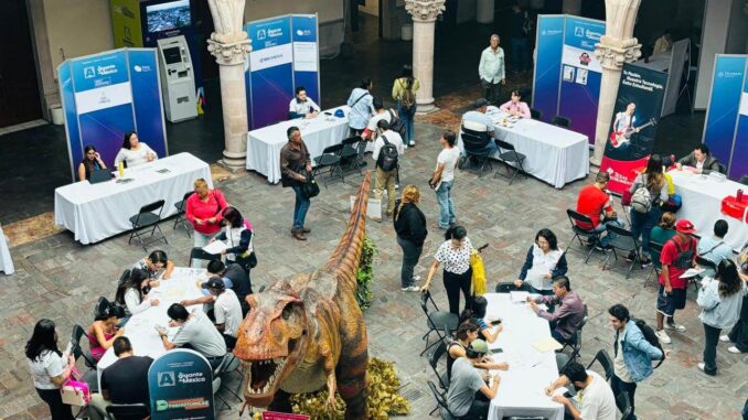
[[[420,191],[416,185],[406,185],[403,189],[403,197],[395,206],[393,223],[397,234],[397,245],[403,249],[403,266],[400,268],[400,290],[404,292],[417,292],[420,288],[415,283],[420,280],[419,276],[413,274],[413,269],[418,263],[424,251],[424,241],[428,235],[426,216],[418,208]]]

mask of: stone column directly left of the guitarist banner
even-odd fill
[[[640,1],[606,0],[606,34],[595,46],[595,55],[602,66],[602,79],[597,108],[595,152],[590,158],[594,165],[600,165],[608,142],[623,63],[633,63],[641,56],[641,44],[632,36]]]

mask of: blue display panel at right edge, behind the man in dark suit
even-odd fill
[[[748,55],[717,54],[703,142],[727,166],[728,177],[748,174]]]

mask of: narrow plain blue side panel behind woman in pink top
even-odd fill
[[[564,15],[538,15],[533,79],[533,108],[551,122],[558,109],[560,62],[564,51]]]

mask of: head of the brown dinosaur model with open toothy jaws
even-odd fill
[[[301,299],[287,281],[250,294],[247,302],[250,310],[239,326],[234,355],[245,367],[247,403],[267,407],[304,354],[307,315]]]

